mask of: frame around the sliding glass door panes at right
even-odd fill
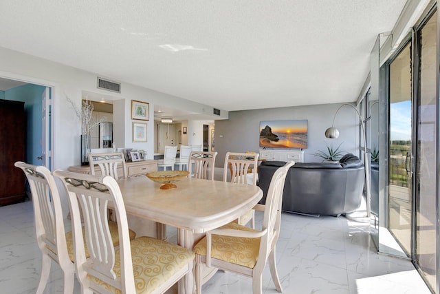
[[[389,57],[382,66],[380,66],[380,138],[379,138],[379,148],[380,148],[380,179],[379,179],[379,189],[380,189],[380,227],[388,228],[388,215],[387,215],[387,207],[388,207],[388,184],[389,184],[389,148],[390,148],[390,142],[389,142],[389,134],[390,134],[390,109],[389,109],[389,102],[390,102],[390,69],[389,65],[395,60],[395,58],[399,55],[401,50],[403,50],[408,43],[410,43],[412,50],[411,50],[411,101],[412,101],[412,162],[411,162],[411,169],[413,172],[415,172],[415,166],[416,166],[416,160],[417,160],[417,123],[419,121],[418,113],[417,113],[417,99],[419,99],[419,42],[420,42],[420,32],[423,28],[423,25],[432,17],[432,14],[437,10],[437,1],[432,1],[430,3],[430,6],[423,12],[422,17],[420,20],[414,25],[411,32],[406,36],[406,38],[401,41],[399,48]],[[440,293],[440,135],[439,135],[439,124],[440,124],[440,100],[439,100],[439,93],[440,93],[440,13],[437,10],[437,49],[436,49],[436,57],[437,57],[437,67],[436,67],[436,101],[437,101],[437,114],[436,114],[436,123],[435,123],[435,140],[436,140],[436,182],[435,182],[435,191],[434,195],[436,197],[436,220],[437,220],[437,227],[436,227],[436,235],[435,235],[435,242],[436,242],[436,251],[435,251],[435,259],[436,259],[436,266],[435,271],[437,274],[437,279],[435,281],[434,289],[435,293]],[[415,187],[417,187],[416,184],[417,181],[417,175],[413,174],[411,185],[412,185],[412,191],[411,191],[411,199],[412,199],[412,219],[411,219],[411,249],[410,249],[410,260],[415,265],[415,268],[417,271],[419,271],[419,274],[423,278],[423,274],[420,273],[419,266],[417,264],[416,255],[417,255],[417,218],[415,218],[415,213],[417,209],[417,202],[416,202],[416,191]],[[380,235],[380,238],[382,236]],[[381,242],[380,242],[381,243]],[[396,255],[393,252],[387,252],[384,247],[378,248],[378,251],[380,253],[386,253],[391,255]],[[402,251],[403,253],[403,251]],[[404,256],[406,257],[406,255]],[[406,257],[408,258],[408,257]],[[423,279],[424,280],[424,279]],[[426,281],[425,281],[426,282]],[[428,284],[428,283],[427,283]]]

